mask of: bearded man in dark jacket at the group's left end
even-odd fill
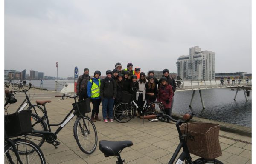
[[[76,95],[79,95],[78,101],[87,99],[87,83],[90,79],[89,69],[84,68],[84,74],[80,75],[76,82]]]

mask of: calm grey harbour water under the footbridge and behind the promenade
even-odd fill
[[[40,87],[40,80],[31,80],[30,82],[36,87]],[[55,81],[44,80],[43,88],[47,88],[48,90],[55,90]],[[62,87],[58,86],[58,91],[61,89]],[[195,116],[200,118],[251,127],[251,90],[250,96],[247,97],[248,102],[246,102],[244,92],[241,90],[237,93],[236,101],[233,100],[236,91],[231,91],[228,88],[202,90],[205,109],[202,109],[203,107],[198,90],[195,92],[195,96],[192,102],[192,109],[189,109],[192,93],[193,91],[175,92],[175,99],[173,104],[174,113],[183,115],[184,113],[191,110],[192,112],[196,113]]]

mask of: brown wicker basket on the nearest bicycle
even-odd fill
[[[205,159],[213,159],[222,155],[218,138],[219,124],[195,122],[182,125],[180,130],[187,135],[189,153]]]

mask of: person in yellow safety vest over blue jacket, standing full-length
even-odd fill
[[[101,75],[100,71],[95,71],[94,72],[94,77],[89,80],[87,84],[87,95],[88,98],[90,98],[90,101],[93,104],[93,110],[92,110],[92,115],[91,115],[91,120],[92,121],[100,121],[98,114],[99,114],[99,105],[101,103],[101,98],[100,98],[100,79],[99,76]]]

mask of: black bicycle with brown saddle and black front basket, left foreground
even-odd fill
[[[50,124],[47,110],[45,107],[46,103],[50,103],[50,100],[41,101],[36,100],[38,105],[42,105],[44,107],[44,116],[38,118],[38,120],[34,124],[41,124],[44,130],[33,130],[32,133],[29,133],[27,136],[36,136],[41,138],[38,146],[41,146],[44,141],[52,144],[55,148],[60,142],[57,141],[57,134],[62,130],[62,128],[71,120],[74,116],[77,116],[76,121],[73,126],[74,138],[76,139],[76,143],[80,150],[86,154],[91,154],[95,151],[98,141],[98,135],[96,131],[96,127],[88,116],[85,116],[85,113],[90,112],[90,99],[85,99],[77,102],[77,96],[67,96],[63,95],[55,95],[55,97],[61,97],[64,100],[64,97],[73,98],[75,103],[73,103],[73,108],[67,114],[67,116],[63,119],[63,121],[59,124]],[[60,99],[61,100],[61,99]],[[46,120],[46,123],[44,122]],[[52,132],[52,126],[59,126],[55,132]],[[55,144],[54,144],[55,143]]]

